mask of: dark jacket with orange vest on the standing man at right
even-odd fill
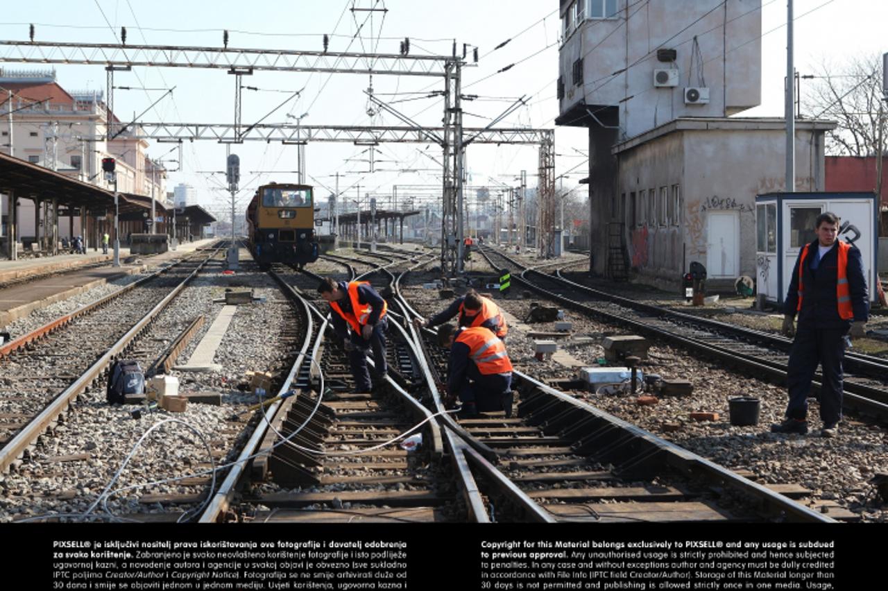
[[[799,252],[783,313],[798,314],[799,323],[817,328],[848,327],[852,320],[865,322],[869,303],[860,249],[836,240],[817,261],[818,248],[819,242],[814,240]]]

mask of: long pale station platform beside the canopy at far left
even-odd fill
[[[0,284],[10,280],[22,281],[0,288],[0,329],[31,311],[44,308],[76,296],[99,285],[125,275],[142,272],[171,259],[207,247],[217,239],[195,240],[179,244],[176,250],[159,255],[131,256],[129,248],[120,249],[121,266],[112,266],[114,256],[88,252],[86,255],[57,255],[28,258],[19,261],[0,261]],[[109,250],[110,253],[110,250]],[[59,273],[42,277],[50,273]]]

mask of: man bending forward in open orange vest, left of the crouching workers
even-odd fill
[[[388,320],[385,312],[388,305],[376,289],[370,287],[369,281],[340,281],[329,277],[321,281],[318,293],[330,304],[335,313],[333,329],[342,339],[349,361],[357,391],[369,392],[373,388],[367,368],[367,355],[373,351],[373,363],[376,364],[374,374],[378,381],[385,379],[385,329]]]

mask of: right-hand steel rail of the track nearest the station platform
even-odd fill
[[[155,305],[150,311],[147,312],[142,319],[139,320],[125,335],[123,335],[120,339],[117,340],[116,343],[111,345],[108,350],[102,355],[92,366],[90,366],[81,376],[70,386],[67,387],[64,391],[59,393],[59,395],[50,403],[49,406],[44,408],[43,412],[38,414],[34,419],[32,419],[28,424],[21,429],[15,437],[3,446],[3,449],[0,449],[0,473],[4,472],[6,469],[12,465],[12,462],[16,461],[19,456],[25,452],[28,446],[32,445],[40,434],[44,432],[44,430],[55,422],[59,415],[62,414],[65,409],[71,404],[71,401],[74,398],[80,396],[83,391],[85,391],[91,383],[96,380],[99,375],[105,371],[107,366],[115,359],[115,357],[122,353],[126,347],[133,341],[141,332],[144,330],[148,324],[155,319],[155,317],[163,311],[164,308],[173,300],[179,293],[182,292],[183,289],[186,288],[186,285],[194,279],[198,272],[201,271],[203,265],[207,264],[210,259],[215,256],[215,252],[207,257],[201,264],[199,264],[193,272],[191,272],[185,280],[182,280],[176,288],[173,288],[170,293],[163,298],[159,303]],[[135,285],[135,284],[133,284]],[[122,292],[116,292],[113,296],[120,295]],[[106,301],[106,298],[102,298],[101,301]],[[85,307],[85,306],[84,306]],[[82,311],[83,308],[80,309]]]

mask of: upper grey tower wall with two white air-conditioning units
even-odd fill
[[[562,15],[570,4],[559,2]],[[720,117],[760,103],[761,0],[728,0],[714,11],[714,3],[699,0],[618,4],[619,19],[585,20],[564,39],[561,114],[583,102],[620,106],[622,138],[632,138],[678,117]],[[694,54],[694,36],[699,54]],[[674,64],[656,59],[661,44],[678,51]],[[580,58],[583,85],[575,86],[573,65]],[[678,68],[678,86],[654,87],[654,69],[670,67]],[[686,105],[684,91],[690,86],[709,88],[710,103]]]

